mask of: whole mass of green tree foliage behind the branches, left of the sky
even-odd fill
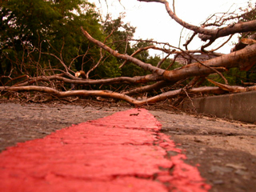
[[[131,44],[127,39],[133,37],[135,28],[123,23],[122,15],[117,19],[108,15],[102,21],[94,5],[86,0],[8,0],[0,2],[0,10],[0,76],[10,73],[12,77],[21,74],[36,76],[50,68],[65,70],[58,58],[69,66],[78,55],[81,56],[75,59],[70,69],[87,72],[98,63],[101,50],[84,38],[80,26],[121,54],[130,55],[139,48],[152,45],[150,42]],[[104,50],[102,54],[104,57],[90,73],[90,78],[149,74],[132,63],[119,69],[121,59]],[[161,60],[150,57],[147,50],[134,57],[154,66]],[[166,59],[162,68],[169,66],[170,62]]]

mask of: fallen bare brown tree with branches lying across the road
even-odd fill
[[[100,58],[94,67],[88,71],[81,70],[74,72],[74,70],[71,70],[70,67],[72,66],[72,62],[74,60],[70,62],[70,65],[66,65],[62,59],[62,54],[60,54],[60,57],[57,57],[55,54],[42,52],[38,49],[38,54],[47,54],[51,57],[57,58],[64,67],[64,70],[49,68],[47,70],[52,72],[52,74],[48,73],[50,75],[47,75],[44,70],[43,75],[37,77],[30,77],[28,74],[22,75],[18,78],[11,78],[10,76],[2,77],[10,78],[10,81],[0,86],[0,90],[2,91],[1,93],[6,94],[20,91],[35,91],[50,94],[57,98],[95,96],[114,98],[129,102],[134,106],[142,106],[164,101],[168,98],[184,98],[195,94],[224,94],[256,90],[256,86],[254,84],[250,84],[250,86],[246,87],[230,86],[229,82],[222,74],[223,72],[226,72],[232,68],[238,68],[239,70],[250,70],[250,68],[256,64],[255,35],[250,36],[254,38],[242,38],[241,41],[238,42],[238,44],[242,43],[242,49],[234,49],[235,51],[231,52],[230,54],[219,54],[215,52],[216,50],[206,50],[206,48],[218,38],[245,32],[254,33],[256,30],[256,20],[237,22],[227,26],[219,26],[217,29],[206,29],[206,27],[209,28],[210,26],[214,26],[214,24],[206,22],[202,26],[193,26],[186,23],[182,21],[181,18],[178,18],[178,16],[170,8],[169,2],[167,1],[140,1],[159,2],[164,4],[166,6],[166,11],[171,18],[173,18],[180,25],[194,32],[194,34],[191,35],[190,39],[186,42],[186,45],[184,45],[185,47],[188,46],[188,44],[193,40],[194,37],[196,37],[197,34],[198,38],[209,42],[207,42],[206,45],[201,46],[201,50],[182,50],[181,48],[170,46],[168,43],[166,43],[166,46],[169,46],[170,49],[161,48],[161,46],[158,46],[160,43],[150,41],[151,43],[154,43],[153,46],[142,47],[135,51],[134,54],[128,55],[126,53],[119,53],[117,50],[114,50],[106,44],[106,39],[110,37],[114,30],[104,41],[101,42],[96,38],[93,38],[81,26],[84,37],[94,45],[98,46],[98,49],[100,50]],[[232,19],[233,18],[230,18],[230,20]],[[248,39],[251,39],[251,41],[248,41]],[[128,42],[129,40],[125,39],[125,41]],[[158,62],[158,65],[156,66],[135,58],[135,55],[139,52],[149,49],[161,50],[166,54],[166,57],[162,58],[162,60]],[[60,51],[60,53],[61,52],[62,51]],[[90,72],[95,70],[101,63],[104,65],[104,62],[102,61],[104,61],[104,57],[107,53],[109,54],[107,57],[113,56],[122,61],[122,63],[120,63],[120,67],[130,65],[129,62],[131,62],[138,66],[141,70],[148,71],[149,74],[134,77],[91,79],[89,76]],[[206,61],[200,61],[200,59],[195,57],[195,53],[201,55],[214,55],[214,58],[210,58]],[[174,57],[171,59],[172,62],[170,62],[169,66],[163,69],[161,67],[162,62],[172,55],[174,55]],[[194,59],[196,62],[188,63],[187,65],[175,68],[174,70],[169,70],[170,66],[174,64],[179,55],[184,58]],[[54,71],[61,73],[53,74]],[[222,78],[224,83],[215,82],[214,80],[210,79],[210,74],[218,75],[220,78]],[[200,86],[204,81],[208,81],[214,84],[214,86]],[[10,84],[12,85],[10,86]],[[83,87],[82,90],[79,90],[79,85]],[[92,88],[93,85],[98,85],[97,90]],[[102,90],[101,87],[106,85],[114,85],[115,90]],[[116,88],[118,85],[120,85],[119,88]],[[138,98],[138,95],[146,95],[147,97],[141,99],[142,97]]]

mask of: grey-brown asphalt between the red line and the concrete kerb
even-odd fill
[[[150,111],[162,131],[197,165],[203,178],[219,191],[256,191],[256,125],[219,118]]]

